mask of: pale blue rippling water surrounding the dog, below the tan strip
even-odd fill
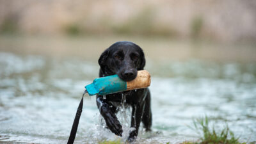
[[[98,75],[96,61],[1,52],[0,67],[0,141],[66,143],[84,85]],[[159,134],[141,130],[138,142],[196,140],[188,125],[204,115],[215,118],[217,127],[227,122],[242,141],[256,140],[255,63],[148,60],[146,69],[152,74],[153,130]],[[84,100],[83,110],[76,143],[118,138],[102,131],[95,97]],[[127,113],[118,114],[126,133]]]

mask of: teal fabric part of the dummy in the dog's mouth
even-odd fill
[[[89,95],[96,95],[97,93],[99,95],[107,95],[127,90],[127,83],[116,74],[96,78],[93,83],[86,85],[85,88]]]

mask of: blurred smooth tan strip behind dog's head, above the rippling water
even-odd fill
[[[164,36],[47,36],[0,35],[0,51],[36,54],[50,57],[78,57],[94,61],[100,52],[117,41],[134,42],[152,60],[186,61],[200,59],[219,62],[255,62],[256,44],[253,42],[214,42],[209,40],[175,39]],[[19,48],[17,48],[19,45]]]

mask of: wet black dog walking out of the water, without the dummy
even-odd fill
[[[143,50],[132,42],[116,42],[101,54],[99,65],[100,77],[118,74],[118,77],[124,81],[131,81],[137,76],[138,70],[143,70],[145,56]],[[122,136],[122,125],[115,113],[118,111],[116,104],[122,102],[123,95],[125,95],[126,104],[132,107],[131,127],[135,129],[130,132],[128,140],[133,141],[138,135],[141,121],[146,131],[150,131],[152,125],[148,88],[109,94],[106,95],[106,99],[102,95],[97,95],[97,106],[108,128],[116,135]]]

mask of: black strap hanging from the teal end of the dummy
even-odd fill
[[[74,119],[74,122],[73,122],[73,125],[72,125],[72,129],[71,129],[71,132],[70,132],[70,136],[68,138],[68,144],[74,143],[74,140],[76,138],[77,127],[78,127],[78,124],[79,124],[81,113],[83,111],[83,99],[84,99],[84,94],[85,93],[87,93],[86,90],[84,91],[82,99],[80,101],[80,104],[79,104],[79,106],[77,108],[76,117]]]

